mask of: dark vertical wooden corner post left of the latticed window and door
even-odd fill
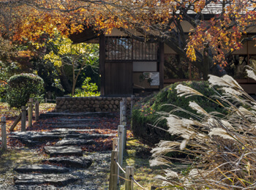
[[[105,35],[99,36],[100,95],[105,96]]]

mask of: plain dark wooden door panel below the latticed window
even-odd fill
[[[105,95],[132,94],[132,61],[105,63]]]

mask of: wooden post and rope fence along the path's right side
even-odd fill
[[[131,107],[132,109],[132,107]],[[111,152],[111,163],[110,163],[110,181],[109,189],[118,189],[118,179],[119,171],[123,172],[125,175],[125,190],[132,190],[134,183],[137,184],[141,189],[141,186],[134,178],[134,167],[122,168],[124,148],[126,147],[126,137],[127,137],[127,103],[126,99],[120,102],[120,125],[118,125],[118,137],[113,138],[113,151]],[[146,189],[145,189],[146,190]]]

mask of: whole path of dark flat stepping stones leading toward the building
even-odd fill
[[[99,115],[110,116],[111,113],[46,113],[41,114],[40,118],[50,117],[72,117],[72,116],[91,116]],[[60,121],[60,122],[59,122]],[[91,123],[97,122],[94,118],[60,118],[56,123],[50,124],[50,132],[11,132],[10,138],[18,139],[27,146],[42,145],[45,153],[48,153],[50,159],[42,160],[47,164],[31,164],[23,165],[15,168],[18,175],[14,177],[14,183],[18,186],[34,186],[34,185],[53,185],[67,186],[79,180],[79,176],[70,175],[70,171],[88,169],[93,163],[92,159],[83,156],[83,150],[80,145],[97,145],[94,139],[114,137],[116,134],[88,134],[85,132],[94,132],[95,129],[88,128]],[[94,128],[94,126],[92,127]],[[83,132],[83,133],[81,133]],[[48,145],[49,142],[57,141],[54,145]],[[47,143],[48,142],[48,143]],[[65,167],[56,166],[61,164]]]

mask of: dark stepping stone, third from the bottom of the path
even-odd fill
[[[78,156],[70,156],[70,157],[56,157],[45,159],[42,161],[48,161],[53,164],[63,164],[66,167],[77,167],[87,169],[92,164],[91,158],[78,157]]]

